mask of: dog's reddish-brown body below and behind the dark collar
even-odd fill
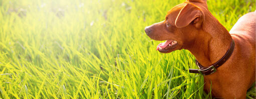
[[[212,81],[213,95],[225,98],[245,98],[255,82],[255,12],[243,15],[230,30],[235,48],[230,60],[218,72],[204,76],[205,89]]]

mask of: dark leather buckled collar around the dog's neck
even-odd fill
[[[197,60],[196,60],[196,65],[200,68],[200,69],[189,69],[190,73],[201,73],[203,75],[208,75],[211,73],[216,72],[217,68],[219,66],[221,66],[223,63],[226,62],[226,60],[231,56],[231,54],[233,53],[234,50],[234,40],[232,39],[231,41],[231,45],[229,47],[229,49],[227,50],[227,52],[225,53],[224,56],[222,56],[217,62],[215,62],[214,64],[212,64],[211,66],[206,66],[204,67],[202,64],[200,64]]]

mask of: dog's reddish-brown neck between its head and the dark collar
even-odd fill
[[[202,30],[188,50],[203,66],[218,61],[229,49],[231,35],[211,14],[206,16]]]

